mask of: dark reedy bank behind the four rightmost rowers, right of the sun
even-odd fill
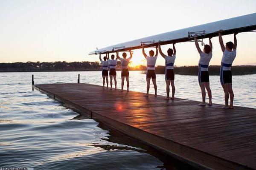
[[[220,65],[210,65],[209,75],[220,75]],[[237,65],[231,68],[233,75],[246,75],[246,74],[256,74],[256,65]],[[198,66],[182,66],[174,68],[175,74],[181,75],[198,75]],[[165,74],[164,66],[156,67],[157,74]]]

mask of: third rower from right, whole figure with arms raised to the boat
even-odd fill
[[[165,70],[165,79],[166,79],[166,94],[167,97],[165,98],[166,100],[169,100],[169,94],[170,94],[170,82],[172,86],[172,100],[174,100],[174,95],[175,95],[175,85],[174,85],[174,62],[176,58],[176,48],[175,48],[175,43],[173,43],[173,49],[169,48],[167,50],[168,56],[163,54],[160,43],[158,44],[159,48],[159,53],[161,56],[166,60],[166,70]]]

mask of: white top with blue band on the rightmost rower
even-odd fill
[[[221,59],[221,69],[231,70],[231,66],[235,58],[236,58],[236,49],[233,49],[233,51],[227,51],[225,49]]]

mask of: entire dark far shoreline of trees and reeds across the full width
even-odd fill
[[[121,62],[117,62],[117,70],[121,70]],[[99,62],[14,62],[0,63],[0,72],[14,71],[101,71],[102,66]],[[146,66],[139,65],[130,67],[129,70],[143,71],[145,73]],[[175,74],[181,75],[198,75],[198,66],[182,66],[175,67]],[[156,67],[157,74],[165,74],[165,66]],[[233,75],[256,74],[256,65],[239,65],[232,66]],[[220,66],[210,65],[210,75],[219,75]]]

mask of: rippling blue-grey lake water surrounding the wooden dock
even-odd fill
[[[79,116],[39,91],[35,84],[102,85],[101,72],[0,73],[0,167],[69,170],[183,170],[192,168],[147,145]],[[120,72],[117,71],[120,88]],[[166,95],[164,75],[158,94]],[[176,97],[201,100],[196,76],[175,75]],[[219,77],[210,76],[212,102],[223,104]],[[126,87],[126,86],[125,86]],[[256,108],[256,75],[233,76],[234,105]],[[130,90],[145,92],[145,74],[130,72]],[[151,83],[150,93],[154,94]]]

